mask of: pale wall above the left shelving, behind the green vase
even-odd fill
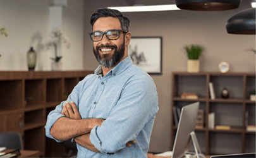
[[[27,51],[37,51],[35,71],[49,71],[52,61],[46,50],[49,40],[49,6],[51,0],[0,0],[0,26],[8,37],[0,35],[0,70],[27,71]],[[83,58],[83,0],[68,1],[63,8],[63,32],[71,47],[62,46],[63,70],[82,70]]]

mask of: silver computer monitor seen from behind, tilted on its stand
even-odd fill
[[[190,144],[191,133],[193,133],[193,131],[195,130],[198,108],[199,102],[195,102],[193,104],[189,104],[188,106],[182,107],[180,121],[174,140],[172,155],[173,158],[180,158],[186,154],[186,149],[188,149],[188,145]],[[194,146],[195,145],[198,146],[198,143],[194,144]]]

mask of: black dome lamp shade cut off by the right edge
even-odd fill
[[[226,23],[228,33],[255,35],[255,8],[245,9],[229,18]]]

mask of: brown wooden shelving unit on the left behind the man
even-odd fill
[[[46,137],[47,115],[91,73],[0,71],[0,132],[20,132],[24,149],[40,150],[41,157],[66,157],[68,149]]]

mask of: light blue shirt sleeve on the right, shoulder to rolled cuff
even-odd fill
[[[116,106],[101,126],[95,126],[90,141],[103,154],[113,154],[124,149],[127,142],[135,140],[144,126],[158,111],[157,92],[149,76],[128,80]]]

